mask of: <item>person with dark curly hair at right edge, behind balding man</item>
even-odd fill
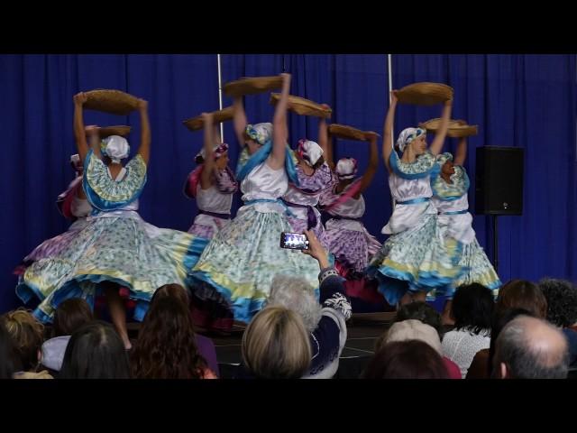
[[[539,289],[547,299],[547,321],[561,332],[569,345],[569,365],[577,366],[577,332],[571,327],[577,322],[577,288],[570,281],[544,279]]]

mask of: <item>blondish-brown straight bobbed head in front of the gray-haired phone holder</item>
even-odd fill
[[[311,348],[300,316],[270,306],[252,318],[243,335],[243,361],[261,379],[298,379],[307,373]]]

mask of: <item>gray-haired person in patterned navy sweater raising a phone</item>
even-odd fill
[[[328,379],[338,370],[347,336],[345,322],[352,313],[351,304],[344,296],[343,279],[329,266],[325,249],[313,232],[306,234],[309,249],[304,253],[316,258],[321,268],[320,304],[307,281],[278,275],[272,281],[267,307],[282,306],[298,313],[307,328],[311,348],[309,368],[303,378]],[[241,377],[246,375],[246,372],[241,373]]]

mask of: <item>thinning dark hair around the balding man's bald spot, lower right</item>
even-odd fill
[[[569,370],[569,351],[565,344],[563,351],[554,353],[543,350],[541,345],[533,345],[528,323],[521,323],[518,318],[511,320],[503,327],[497,340],[495,363],[504,363],[508,368],[508,377],[512,379],[565,379]],[[561,331],[541,318],[533,318],[543,323],[543,327],[559,334]],[[556,357],[554,357],[556,355]],[[499,373],[493,369],[493,377]]]

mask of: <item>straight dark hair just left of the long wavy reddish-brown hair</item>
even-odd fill
[[[95,320],[70,337],[61,379],[130,379],[128,356],[114,328]]]

